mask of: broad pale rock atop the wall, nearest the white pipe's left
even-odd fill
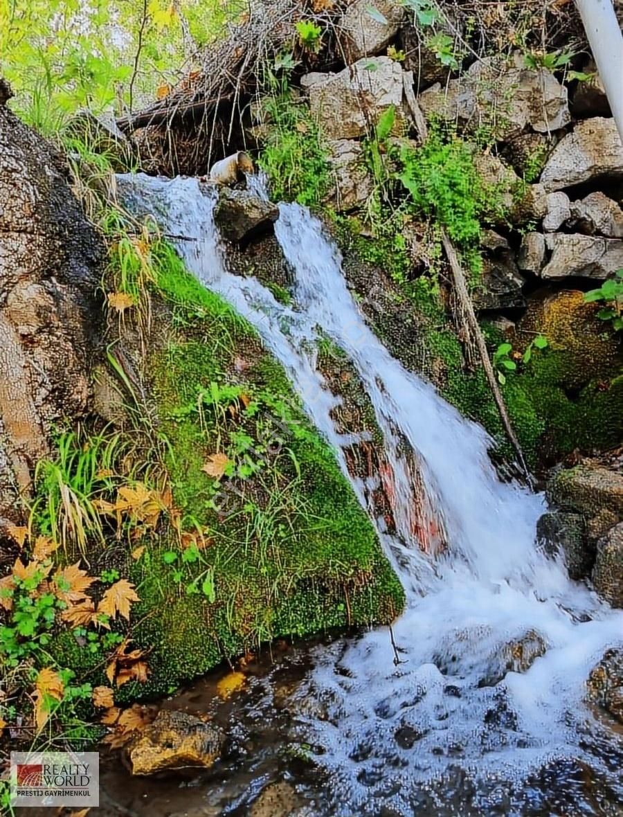
[[[510,65],[492,58],[478,60],[446,87],[434,85],[419,97],[428,117],[435,115],[463,127],[492,125],[498,140],[526,127],[550,133],[570,121],[567,89],[551,71],[527,69],[515,54]]]

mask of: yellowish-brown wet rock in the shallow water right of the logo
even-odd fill
[[[128,747],[133,775],[155,775],[188,767],[209,769],[220,757],[224,735],[186,712],[162,709]]]

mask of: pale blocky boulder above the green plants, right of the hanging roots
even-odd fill
[[[387,56],[358,60],[307,84],[309,107],[327,139],[355,139],[394,105],[402,117],[403,69]]]

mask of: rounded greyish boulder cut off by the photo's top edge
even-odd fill
[[[378,15],[375,16],[374,12]],[[371,13],[372,12],[372,13]],[[378,17],[384,17],[382,22]],[[397,0],[354,0],[338,22],[340,41],[347,61],[385,51],[404,17],[404,4]]]

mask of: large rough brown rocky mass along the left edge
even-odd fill
[[[104,249],[65,158],[8,96],[0,80],[0,517],[15,519],[55,426],[87,410]]]

